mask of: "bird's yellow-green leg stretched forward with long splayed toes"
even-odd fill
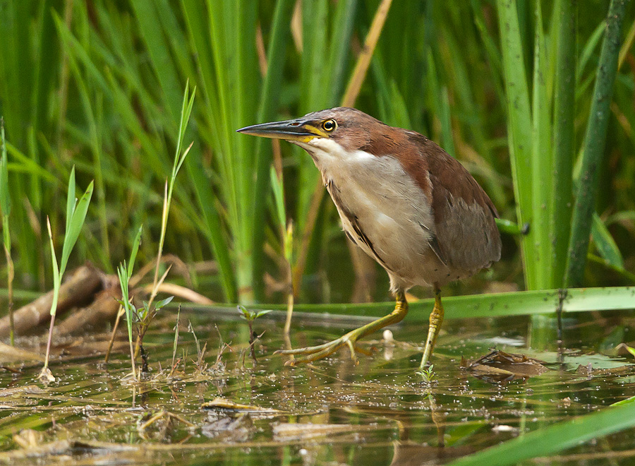
[[[355,342],[360,338],[363,338],[366,335],[370,335],[370,333],[379,330],[380,328],[384,328],[387,325],[392,325],[393,323],[401,321],[401,319],[406,317],[406,313],[408,313],[408,302],[406,301],[404,292],[400,290],[397,292],[397,304],[395,304],[394,306],[394,311],[389,313],[387,316],[378,318],[376,321],[367,323],[366,325],[363,325],[360,328],[356,328],[355,330],[351,330],[349,333],[346,333],[346,335],[343,335],[337,340],[333,340],[332,342],[325,343],[324,345],[310,346],[298,349],[279,349],[277,352],[275,352],[275,354],[286,354],[291,356],[296,356],[298,354],[302,355],[303,357],[291,359],[290,361],[284,363],[286,366],[295,366],[296,364],[311,362],[317,359],[322,359],[323,357],[327,357],[330,354],[336,352],[339,348],[346,345],[351,351],[351,359],[353,359],[353,362],[355,364],[358,364],[354,349]]]

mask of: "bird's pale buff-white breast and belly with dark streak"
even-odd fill
[[[393,291],[463,277],[430,247],[435,226],[423,191],[396,159],[370,157],[322,166],[344,231],[387,270]]]

